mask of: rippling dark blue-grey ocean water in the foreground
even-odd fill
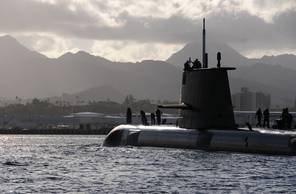
[[[0,135],[0,193],[295,193],[296,157],[101,148],[105,135]]]

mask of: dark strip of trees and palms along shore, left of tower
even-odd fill
[[[56,101],[54,103],[47,100],[39,100],[34,98],[32,102],[27,102],[25,104],[17,103],[6,104],[4,107],[0,107],[0,111],[6,116],[47,116],[47,117],[61,117],[61,116],[70,116],[72,109],[75,109],[75,112],[95,112],[95,113],[104,113],[104,114],[115,114],[120,110],[125,116],[126,109],[131,108],[132,113],[138,113],[140,110],[144,110],[146,114],[155,112],[155,107],[158,104],[179,104],[179,102],[169,102],[168,100],[158,100],[156,103],[154,100],[136,100],[133,95],[127,95],[125,101],[122,104],[117,102],[112,102],[108,98],[107,101],[78,101],[75,105],[71,105],[70,102],[66,101]],[[178,114],[176,109],[166,109],[164,110],[165,114]]]

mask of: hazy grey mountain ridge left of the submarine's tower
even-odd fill
[[[23,100],[48,98],[110,85],[124,97],[122,100],[115,100],[113,96],[108,98],[120,103],[128,94],[139,100],[179,99],[182,70],[166,62],[111,62],[84,51],[50,59],[29,51],[11,36],[0,39],[2,42],[5,40],[5,44],[0,45],[2,51],[5,51],[6,45],[10,47],[7,54],[0,55],[0,81],[3,83],[0,85],[1,97],[13,99],[18,96]]]

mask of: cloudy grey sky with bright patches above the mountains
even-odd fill
[[[296,55],[296,0],[0,0],[0,36],[49,58],[86,51],[111,61],[165,61],[219,41],[248,58]]]

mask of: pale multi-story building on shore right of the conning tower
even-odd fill
[[[241,92],[232,94],[234,111],[256,111],[258,108],[270,109],[271,96],[263,92],[250,92],[249,88],[242,87]]]

